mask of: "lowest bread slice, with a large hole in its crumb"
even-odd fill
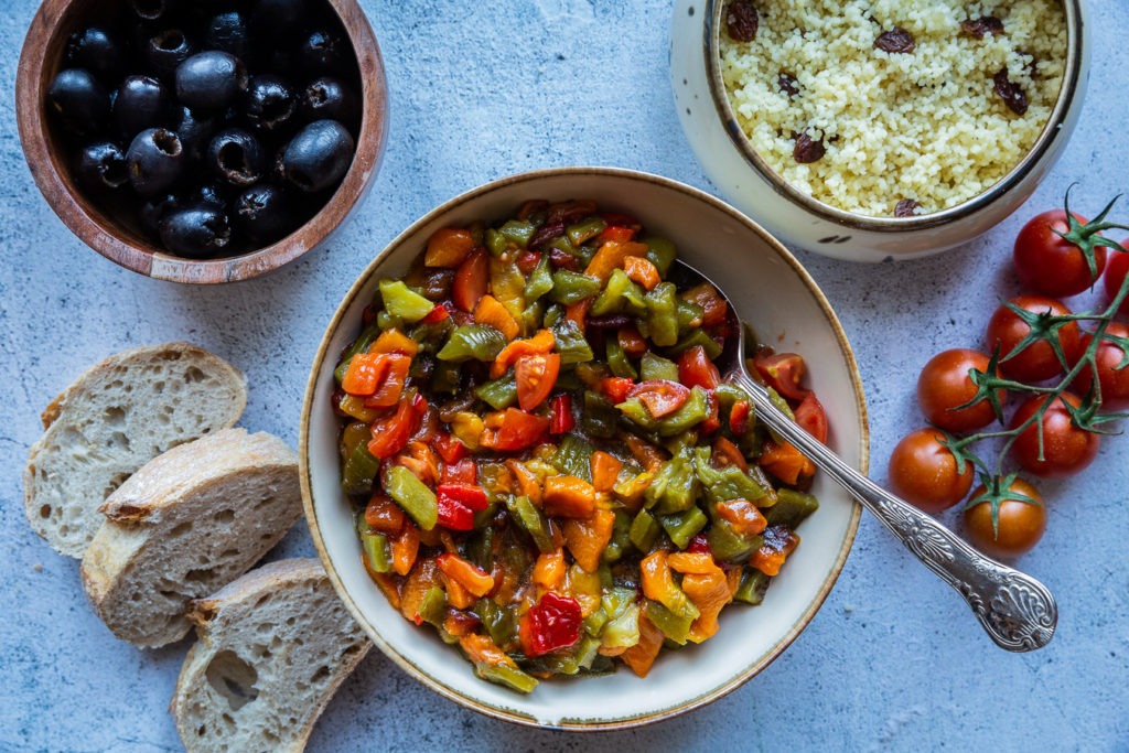
[[[316,559],[265,564],[190,615],[200,640],[169,703],[189,753],[304,750],[373,646]]]

